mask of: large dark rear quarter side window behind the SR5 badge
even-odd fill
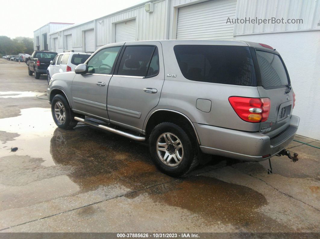
[[[180,70],[189,80],[256,86],[252,55],[248,47],[177,45]]]

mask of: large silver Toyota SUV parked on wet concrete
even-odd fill
[[[206,154],[263,161],[294,138],[299,117],[284,62],[244,41],[108,44],[47,90],[58,127],[78,122],[148,141],[162,172],[180,176]]]

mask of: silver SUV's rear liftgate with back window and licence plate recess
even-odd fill
[[[293,109],[293,90],[282,58],[274,50],[255,50],[257,56],[257,78],[261,85],[258,91],[261,98],[271,101],[268,120],[260,123],[260,132],[270,138],[284,131],[290,124]]]

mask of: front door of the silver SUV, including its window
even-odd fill
[[[101,120],[108,119],[108,84],[121,48],[122,45],[114,44],[101,49],[86,63],[88,73],[76,74],[72,81],[74,110]]]

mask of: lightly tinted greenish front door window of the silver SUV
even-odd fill
[[[100,50],[88,62],[88,73],[110,74],[121,47]]]

